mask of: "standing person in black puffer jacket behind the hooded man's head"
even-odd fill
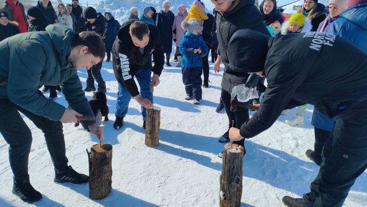
[[[229,127],[232,126],[233,121],[234,127],[240,128],[249,119],[248,109],[240,107],[236,112],[231,112],[230,93],[234,86],[245,84],[249,74],[240,68],[228,68],[228,64],[230,64],[228,60],[228,42],[234,32],[241,29],[251,29],[268,36],[270,34],[264,24],[263,17],[261,17],[259,10],[254,5],[254,0],[213,0],[213,3],[218,11],[216,24],[219,42],[217,49],[218,59],[214,64],[214,70],[215,72],[219,72],[221,61],[223,61],[224,73],[221,97],[228,116]],[[220,138],[220,142],[229,141],[228,131]],[[244,140],[233,143],[244,146]],[[221,157],[221,153],[218,156]]]

